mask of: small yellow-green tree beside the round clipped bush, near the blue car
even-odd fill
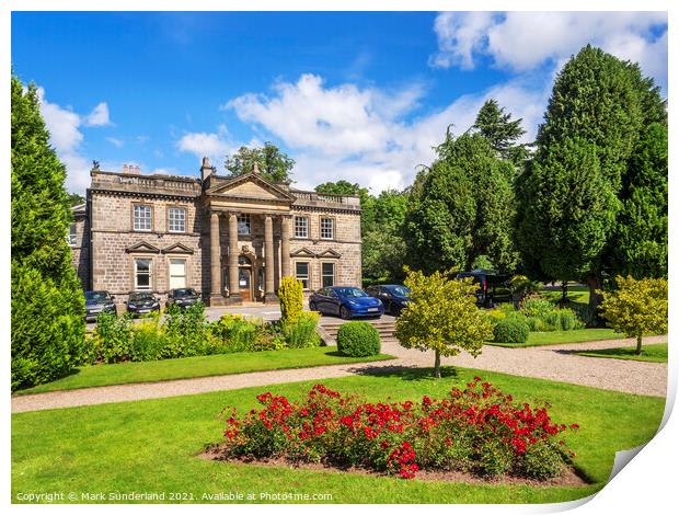
[[[477,356],[493,337],[491,321],[476,307],[472,278],[449,278],[450,272],[424,275],[406,268],[405,286],[413,302],[396,320],[395,336],[405,348],[434,350],[434,377],[441,377],[441,356],[467,351]]]

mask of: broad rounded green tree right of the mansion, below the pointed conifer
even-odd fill
[[[427,272],[471,270],[486,255],[500,271],[514,270],[514,167],[480,134],[449,134],[437,152],[410,195],[411,263]]]

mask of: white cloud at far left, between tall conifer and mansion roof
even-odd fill
[[[97,111],[102,104],[97,105],[90,115],[83,117],[73,111],[48,102],[43,88],[38,88],[37,94],[41,114],[49,131],[49,141],[66,165],[66,188],[69,192],[82,193],[90,183],[91,162],[82,154],[80,148],[84,139],[80,127],[87,125],[87,119],[94,113],[100,113],[96,116],[100,122],[103,119],[101,110]],[[106,108],[107,118],[108,110]]]

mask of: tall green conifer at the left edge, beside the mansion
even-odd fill
[[[35,84],[11,79],[12,389],[68,374],[84,347],[84,298],[66,234],[66,169]]]

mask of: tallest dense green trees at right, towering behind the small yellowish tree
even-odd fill
[[[517,183],[517,244],[526,268],[586,278],[666,274],[666,102],[637,65],[586,46],[559,73]]]

